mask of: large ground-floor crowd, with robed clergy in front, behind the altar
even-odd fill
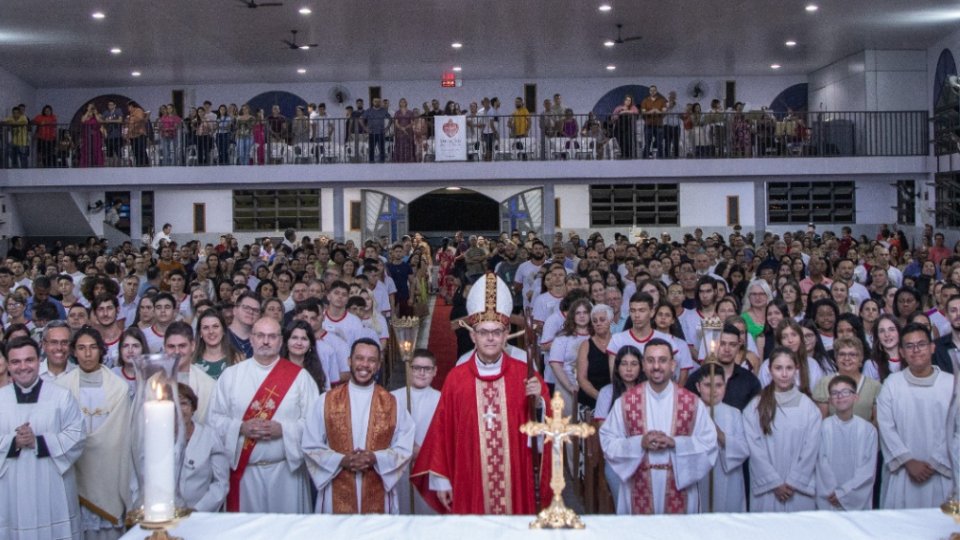
[[[777,512],[935,507],[951,492],[960,243],[929,226],[915,242],[814,224],[439,246],[171,234],[13,240],[0,266],[11,537],[123,533],[132,359],[160,351],[184,360],[180,491],[198,510],[533,513],[518,427],[528,397],[548,411],[553,391],[565,416],[600,426],[621,514],[703,512],[708,494],[714,511]],[[457,333],[459,358],[441,361],[457,367],[432,389],[437,358],[416,350],[408,409],[407,389],[383,387],[391,323],[426,317],[435,292]],[[540,358],[511,341],[524,308]]]

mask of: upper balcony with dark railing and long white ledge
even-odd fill
[[[436,160],[432,124],[432,117],[394,118],[382,136],[360,119],[306,116],[4,125],[0,185],[17,191],[916,174],[928,170],[930,153],[924,111],[614,118],[514,117],[504,110],[466,116],[465,162]]]

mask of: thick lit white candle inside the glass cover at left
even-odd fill
[[[174,423],[172,401],[143,405],[143,513],[146,521],[169,521],[174,515]]]

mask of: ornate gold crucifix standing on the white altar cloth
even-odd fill
[[[567,482],[563,478],[563,443],[571,437],[589,437],[597,430],[587,423],[572,424],[570,417],[563,416],[563,398],[560,392],[553,394],[550,400],[553,413],[547,422],[527,422],[520,426],[520,432],[536,437],[543,435],[553,443],[553,472],[550,476],[550,489],[553,501],[550,507],[540,512],[537,519],[530,523],[531,529],[582,529],[583,522],[576,512],[563,504],[563,488]]]

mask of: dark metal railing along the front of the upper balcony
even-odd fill
[[[469,161],[923,156],[924,111],[467,115]],[[0,125],[7,168],[159,167],[435,160],[432,117]]]

